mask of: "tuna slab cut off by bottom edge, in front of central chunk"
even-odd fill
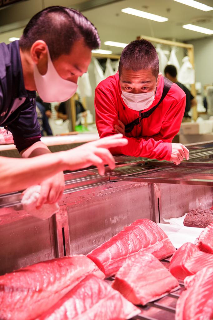
[[[139,313],[105,281],[89,275],[36,320],[123,320]]]

